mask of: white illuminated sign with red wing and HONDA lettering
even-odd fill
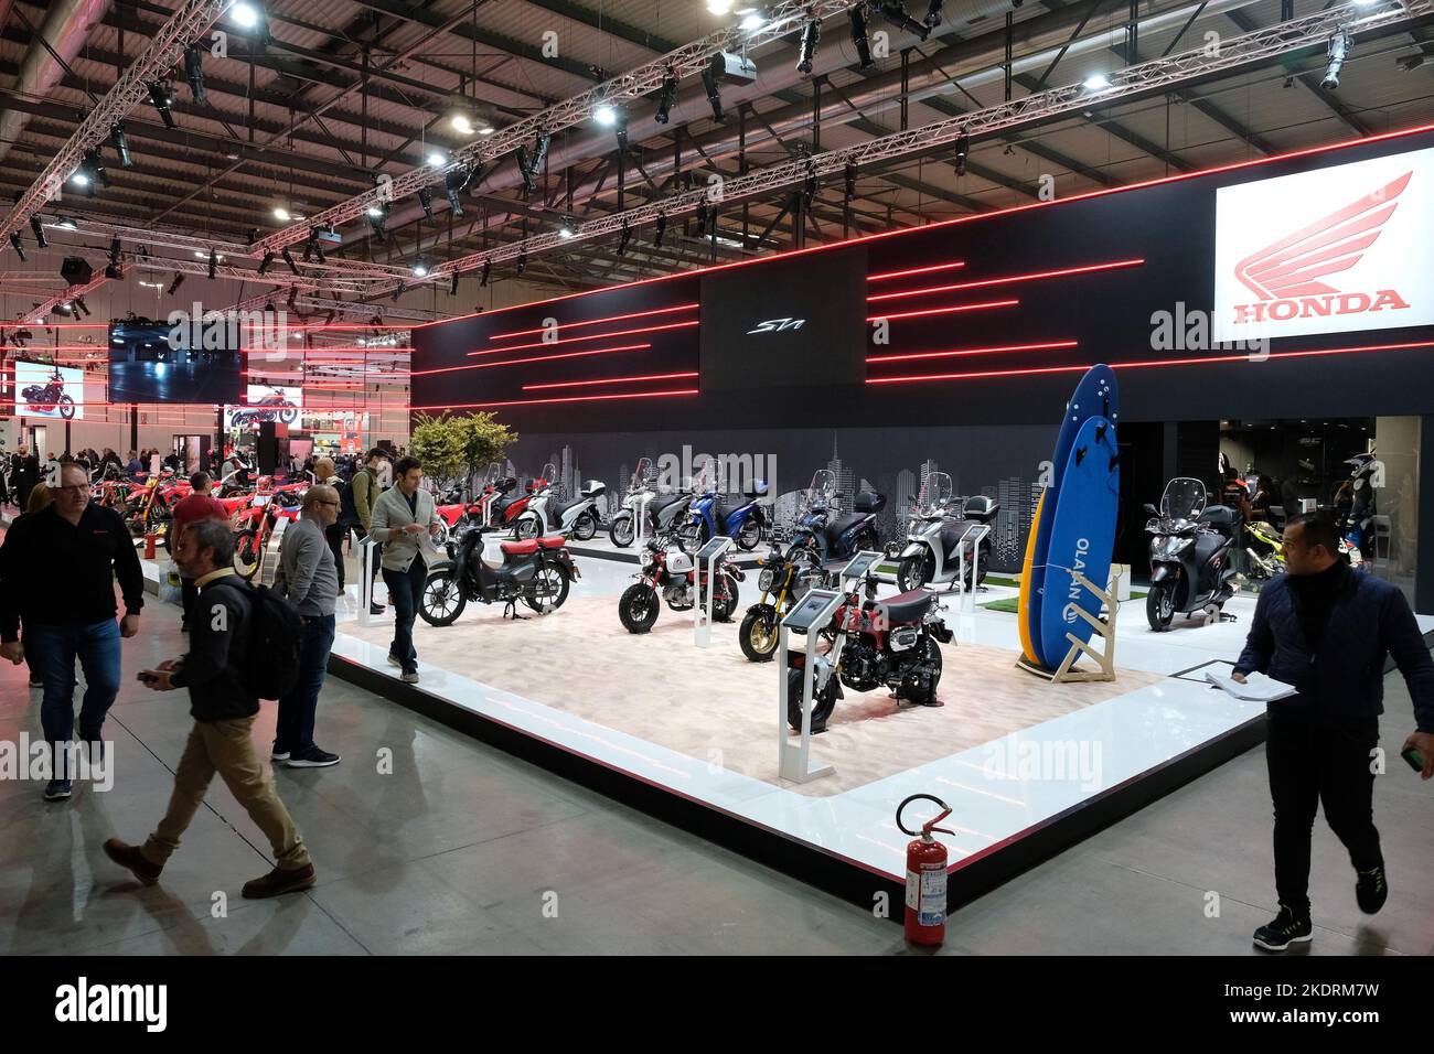
[[[1222,343],[1434,323],[1434,149],[1216,191]]]

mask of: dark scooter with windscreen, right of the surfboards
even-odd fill
[[[1146,594],[1146,618],[1150,628],[1164,632],[1176,614],[1203,611],[1210,619],[1235,595],[1235,545],[1240,515],[1225,505],[1206,508],[1205,483],[1197,479],[1172,479],[1166,485],[1160,509],[1146,505],[1152,515],[1150,592]]]

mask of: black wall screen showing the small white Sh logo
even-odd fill
[[[707,390],[866,380],[866,254],[817,252],[703,275]]]

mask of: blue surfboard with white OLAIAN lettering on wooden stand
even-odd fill
[[[1116,545],[1116,518],[1120,512],[1120,449],[1116,426],[1097,416],[1086,420],[1076,433],[1055,515],[1051,521],[1050,548],[1045,552],[1045,591],[1041,595],[1041,661],[1055,670],[1070,651],[1065,634],[1088,641],[1091,625],[1076,614],[1083,608],[1100,614],[1100,598],[1071,576],[1080,571],[1104,589],[1110,579],[1110,556]]]

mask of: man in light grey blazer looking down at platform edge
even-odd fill
[[[423,598],[433,546],[424,532],[436,535],[443,521],[433,508],[433,495],[419,486],[423,466],[417,457],[402,457],[393,466],[393,486],[373,506],[370,532],[383,542],[383,582],[393,604],[393,644],[389,664],[403,670],[404,684],[419,683],[419,652],[413,648],[413,619]]]

